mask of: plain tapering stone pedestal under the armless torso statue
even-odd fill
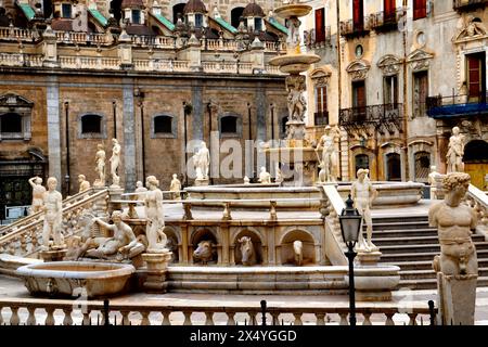
[[[445,275],[437,272],[439,324],[474,325],[477,279],[476,274]]]

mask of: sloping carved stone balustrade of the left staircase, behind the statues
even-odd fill
[[[82,198],[79,201],[75,200],[69,204],[64,204],[62,229],[65,239],[79,231],[81,223],[78,221],[84,211],[90,210],[93,215],[100,215],[97,209],[106,209],[104,206],[106,206],[107,192],[108,190],[104,189],[89,196],[81,195]],[[7,231],[0,236],[0,253],[23,257],[36,254],[42,244],[42,227],[43,219],[40,217],[15,230]]]

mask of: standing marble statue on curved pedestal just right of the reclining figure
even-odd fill
[[[147,253],[166,253],[167,236],[163,232],[165,228],[163,213],[163,192],[159,190],[159,181],[154,176],[149,176],[145,180],[147,193],[144,198],[145,217],[147,224],[145,235],[147,237]]]

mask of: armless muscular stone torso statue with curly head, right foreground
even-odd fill
[[[461,204],[467,192],[471,177],[452,172],[442,179],[445,200],[428,210],[431,227],[438,229],[440,257],[434,268],[444,274],[477,274],[476,249],[471,240],[477,217],[473,208]]]

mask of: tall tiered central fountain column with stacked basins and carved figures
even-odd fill
[[[286,54],[270,61],[280,70],[290,74],[286,77],[288,91],[285,146],[268,147],[265,150],[270,162],[279,162],[286,176],[294,177],[293,185],[312,185],[317,177],[318,156],[314,149],[305,138],[305,113],[307,102],[304,97],[306,78],[300,73],[309,69],[310,65],[320,61],[317,54],[304,54],[300,51],[300,35],[298,17],[305,16],[312,8],[292,1],[292,3],[274,10],[274,13],[286,21],[288,37],[286,39]],[[274,163],[271,163],[274,167]],[[290,182],[287,183],[290,185]],[[285,182],[286,185],[286,182]]]

